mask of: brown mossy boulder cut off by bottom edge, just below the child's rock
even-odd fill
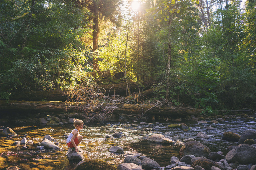
[[[100,160],[87,160],[78,163],[75,170],[117,170],[116,167],[107,164],[106,162]]]

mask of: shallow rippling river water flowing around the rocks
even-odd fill
[[[176,156],[179,158],[180,147],[176,145],[149,143],[147,138],[153,134],[163,134],[170,136],[174,141],[194,138],[197,141],[208,146],[212,152],[222,151],[225,155],[228,152],[229,145],[236,145],[236,142],[224,141],[221,139],[222,134],[226,131],[241,133],[245,130],[255,130],[255,121],[244,122],[244,120],[232,120],[222,122],[220,124],[198,124],[188,121],[186,123],[191,130],[184,131],[179,128],[169,129],[167,126],[177,122],[162,122],[165,126],[160,130],[153,129],[153,126],[144,125],[142,129],[132,128],[127,123],[110,123],[112,127],[106,124],[86,124],[87,127],[80,130],[80,134],[84,137],[79,146],[85,151],[83,153],[86,159],[101,159],[111,165],[117,166],[123,163],[123,154],[115,154],[108,152],[110,146],[118,145],[127,152],[140,152],[143,156],[154,159],[165,167],[170,164],[170,158]],[[181,122],[178,122],[181,123]],[[133,123],[136,124],[136,123]],[[157,124],[155,124],[157,125]],[[205,126],[210,125],[215,130],[207,130]],[[73,170],[77,163],[69,162],[65,157],[68,151],[65,133],[70,133],[74,127],[72,125],[57,126],[7,126],[12,128],[18,137],[1,137],[0,141],[0,168],[5,169],[9,166],[19,165],[24,170]],[[112,135],[114,132],[122,132],[121,138],[108,138],[106,135]],[[207,135],[212,135],[210,139],[198,139],[196,134],[203,131]],[[23,135],[29,135],[27,139],[33,140],[34,144],[26,145],[27,150],[21,150],[24,145],[14,145],[13,142],[21,140]],[[60,143],[58,150],[44,149],[38,150],[38,142],[41,142],[45,135],[51,135]]]

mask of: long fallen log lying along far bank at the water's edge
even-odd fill
[[[147,111],[146,115],[169,115],[185,117],[186,115],[199,115],[202,109],[190,108],[190,107],[153,107],[155,104],[123,104],[115,103],[103,103],[101,108],[109,109],[113,114],[126,114],[126,115],[142,115]],[[152,108],[151,108],[152,107]],[[89,103],[65,103],[62,101],[17,101],[17,100],[1,100],[1,112],[81,112],[81,110],[88,110],[88,112],[101,112],[99,104]]]

